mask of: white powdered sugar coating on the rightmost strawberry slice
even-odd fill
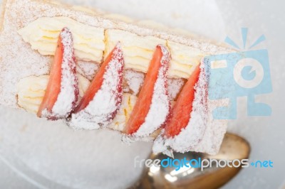
[[[201,72],[199,80],[195,85],[195,99],[193,101],[193,109],[191,119],[185,129],[173,138],[166,138],[163,133],[155,140],[153,146],[154,153],[164,152],[171,154],[170,151],[184,153],[185,151],[193,151],[204,136],[207,128],[208,109],[207,109],[207,82],[209,75],[205,72],[204,63],[200,66]],[[169,151],[168,148],[171,148]]]

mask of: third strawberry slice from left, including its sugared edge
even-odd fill
[[[167,95],[169,63],[169,50],[163,45],[157,45],[142,90],[126,124],[125,134],[147,136],[165,123],[170,111]]]

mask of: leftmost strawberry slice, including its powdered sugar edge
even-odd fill
[[[58,37],[51,74],[38,109],[38,117],[52,120],[67,117],[78,101],[78,94],[73,37],[68,28],[63,28]]]

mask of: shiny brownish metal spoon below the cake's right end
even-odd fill
[[[177,159],[187,158],[188,160],[198,158],[241,160],[249,158],[249,153],[250,146],[245,139],[235,134],[226,134],[219,153],[215,156],[207,153],[174,153],[174,156]],[[152,154],[150,158],[162,160],[168,156],[160,153]],[[219,188],[237,175],[242,168],[242,166],[217,168],[214,165],[216,164],[212,164],[212,168],[204,168],[204,171],[201,171],[201,168],[185,166],[178,171],[175,171],[175,167],[151,166],[147,168],[139,185],[135,188]]]

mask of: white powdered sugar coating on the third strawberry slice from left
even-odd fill
[[[167,115],[170,112],[170,100],[167,92],[167,70],[170,63],[170,52],[168,49],[159,45],[162,50],[161,66],[158,71],[157,80],[152,95],[150,110],[145,117],[145,122],[140,126],[133,136],[144,137],[152,134],[165,123]]]

